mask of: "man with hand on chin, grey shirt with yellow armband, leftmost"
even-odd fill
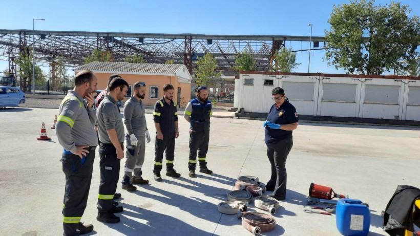
[[[93,230],[93,225],[83,225],[80,219],[88,201],[98,144],[93,128],[96,115],[92,94],[98,79],[92,71],[83,70],[74,77],[74,84],[74,89],[61,101],[55,126],[58,142],[64,148],[60,160],[66,175],[62,208],[64,235],[85,234]]]

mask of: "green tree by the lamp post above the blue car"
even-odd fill
[[[25,51],[26,48],[25,48]],[[19,52],[19,58],[15,60],[16,65],[18,66],[19,76],[23,80],[22,81],[22,89],[27,91],[28,85],[32,88],[32,55],[29,57],[25,57],[22,52]],[[35,84],[38,81],[43,81],[44,74],[43,71],[35,65]]]

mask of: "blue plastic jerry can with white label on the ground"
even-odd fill
[[[339,199],[335,222],[337,229],[345,236],[366,236],[370,227],[369,208],[357,199]]]

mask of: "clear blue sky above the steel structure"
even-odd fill
[[[420,16],[420,1],[401,0],[409,5],[410,15]],[[107,31],[135,33],[196,33],[241,35],[324,36],[333,4],[348,1],[18,1],[1,4],[0,29],[32,29],[57,31]],[[376,4],[391,1],[376,0]],[[287,41],[293,50],[308,49],[309,42]],[[322,45],[321,45],[322,46]],[[310,72],[344,73],[328,67],[324,51],[311,51]],[[307,72],[308,52],[297,54],[301,65],[295,72]],[[7,68],[0,61],[0,71]]]

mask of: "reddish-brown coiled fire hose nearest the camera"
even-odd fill
[[[276,220],[268,214],[260,212],[246,212],[242,214],[242,226],[255,235],[269,232],[276,227]]]

